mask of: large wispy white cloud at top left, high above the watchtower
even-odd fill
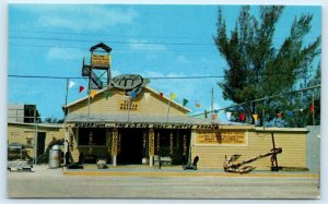
[[[132,9],[102,5],[40,5],[27,8],[38,17],[36,24],[47,28],[69,28],[75,32],[109,29],[121,24],[131,24],[138,13]]]

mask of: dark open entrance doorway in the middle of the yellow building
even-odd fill
[[[120,154],[117,163],[120,165],[141,165],[143,129],[121,129]]]

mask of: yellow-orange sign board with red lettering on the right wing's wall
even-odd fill
[[[245,146],[247,132],[239,130],[199,131],[196,134],[197,145]]]

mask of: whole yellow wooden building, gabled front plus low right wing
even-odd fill
[[[219,124],[188,116],[190,109],[145,86],[133,100],[121,89],[98,91],[67,105],[65,139],[74,160],[106,158],[108,164],[149,164],[168,158],[183,165],[199,156],[200,168],[222,169],[225,157],[248,159],[272,149],[272,134],[280,167],[306,169],[306,129],[263,129]],[[256,160],[257,169],[270,169],[270,157]]]

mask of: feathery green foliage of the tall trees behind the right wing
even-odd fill
[[[311,31],[313,15],[295,17],[289,36],[280,48],[273,45],[276,25],[284,7],[263,5],[259,17],[250,13],[250,7],[242,7],[235,28],[227,36],[226,23],[219,9],[218,31],[214,43],[229,68],[219,83],[224,99],[236,104],[246,103],[243,109],[248,116],[262,109],[272,111],[294,110],[304,106],[296,94],[250,103],[257,98],[283,95],[300,88],[300,79],[306,74],[316,56],[320,53],[320,37],[304,45]],[[303,104],[302,104],[303,103]],[[271,119],[273,120],[273,118]],[[268,122],[268,121],[267,121]],[[298,125],[286,121],[285,125]]]

